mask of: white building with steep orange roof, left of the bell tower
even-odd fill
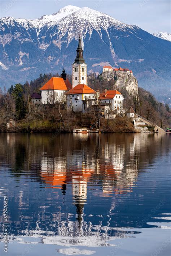
[[[68,84],[70,86],[68,86]],[[62,77],[52,77],[41,90],[41,104],[54,104],[60,101],[66,101],[66,95],[64,94],[71,88],[69,81],[64,80]]]

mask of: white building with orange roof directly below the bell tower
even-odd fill
[[[85,84],[78,84],[66,93],[67,107],[71,111],[86,113],[95,104],[96,91]]]

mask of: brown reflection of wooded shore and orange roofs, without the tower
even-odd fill
[[[72,176],[87,176],[100,182],[104,195],[131,191],[138,172],[153,163],[158,154],[167,154],[166,134],[29,135],[0,136],[1,162],[11,171],[61,188],[65,194]]]

